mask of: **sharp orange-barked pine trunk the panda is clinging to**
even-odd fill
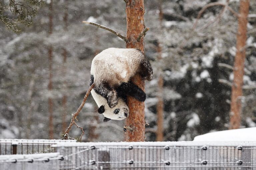
[[[137,38],[143,32],[144,26],[144,0],[129,0],[126,5],[126,23],[127,23],[127,39],[126,48],[136,48],[144,53],[143,37],[137,42]],[[145,83],[140,75],[135,75],[132,82],[144,90]],[[145,138],[145,114],[144,102],[128,96],[127,103],[130,110],[129,117],[126,119],[126,126],[133,128],[126,132],[126,141],[144,141]]]

